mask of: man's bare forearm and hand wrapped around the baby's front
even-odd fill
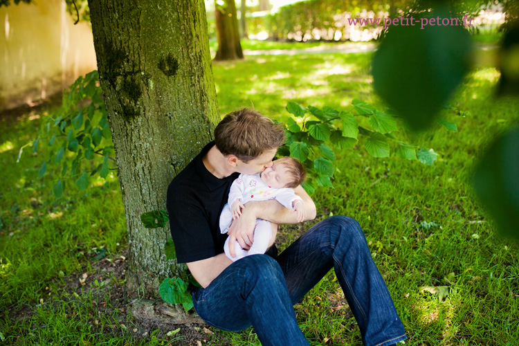
[[[307,192],[301,187],[293,189],[304,201],[304,212],[307,217],[304,221],[316,218],[316,204],[313,203]],[[229,253],[235,255],[235,240],[242,246],[248,248],[247,240],[254,242],[254,227],[256,219],[271,221],[273,224],[298,224],[298,215],[292,210],[285,208],[275,199],[269,201],[250,201],[242,209],[242,216],[235,219],[229,228]]]

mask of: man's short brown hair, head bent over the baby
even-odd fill
[[[284,143],[284,128],[255,109],[228,113],[215,129],[221,154],[235,155],[244,163]]]

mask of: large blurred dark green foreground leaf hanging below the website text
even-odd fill
[[[452,17],[437,3],[430,17]],[[463,26],[391,26],[372,60],[374,89],[412,129],[425,129],[469,71],[471,51]]]

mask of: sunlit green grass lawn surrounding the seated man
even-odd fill
[[[371,53],[263,55],[214,63],[220,112],[253,105],[284,120],[289,100],[347,110],[359,98],[382,107],[370,84],[371,57]],[[518,100],[493,98],[497,81],[498,72],[484,66],[466,78],[450,104],[471,115],[446,113],[457,123],[458,132],[435,128],[403,134],[410,143],[434,148],[440,154],[434,165],[393,155],[372,158],[360,145],[336,152],[335,189],[313,195],[318,219],[349,215],[363,227],[406,328],[406,345],[519,345],[518,246],[495,234],[470,184],[473,164],[484,147],[519,120]],[[55,201],[52,174],[37,179],[44,153],[33,155],[28,149],[16,163],[19,147],[36,134],[37,116],[48,111],[37,109],[19,114],[18,119],[0,120],[4,129],[0,165],[8,167],[0,182],[0,309],[15,313],[1,315],[0,332],[8,345],[125,345],[134,326],[118,327],[114,333],[119,307],[100,309],[100,302],[109,301],[110,290],[95,289],[90,283],[76,297],[63,283],[73,273],[93,275],[92,253],[99,248],[111,258],[125,248],[117,181],[86,193],[69,187],[65,198]],[[280,247],[309,224],[283,226]],[[454,277],[444,280],[450,273]],[[111,289],[122,284],[117,277],[107,278]],[[440,301],[421,286],[447,286],[448,295]],[[30,313],[18,320],[22,311]],[[311,345],[361,345],[333,272],[295,311]],[[207,336],[211,345],[260,345],[252,328],[240,333],[211,330],[214,334]],[[143,336],[135,343],[171,341],[154,337]]]

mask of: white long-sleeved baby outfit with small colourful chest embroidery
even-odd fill
[[[228,203],[224,206],[224,210],[221,210],[220,215],[220,231],[222,234],[227,233],[230,224],[233,221],[233,214],[230,211],[230,206],[239,199],[242,204],[249,201],[266,201],[268,199],[275,199],[280,202],[285,208],[293,209],[292,202],[296,199],[302,201],[301,197],[298,197],[291,188],[271,188],[266,185],[260,174],[248,175],[239,174],[238,178],[233,181],[233,185],[230,186]],[[254,242],[251,248],[246,251],[239,245],[238,241],[235,244],[236,257],[231,257],[229,253],[229,238],[226,240],[224,245],[224,251],[231,260],[236,261],[248,255],[265,253],[268,242],[272,237],[272,226],[270,221],[256,219],[256,226],[254,228]]]

